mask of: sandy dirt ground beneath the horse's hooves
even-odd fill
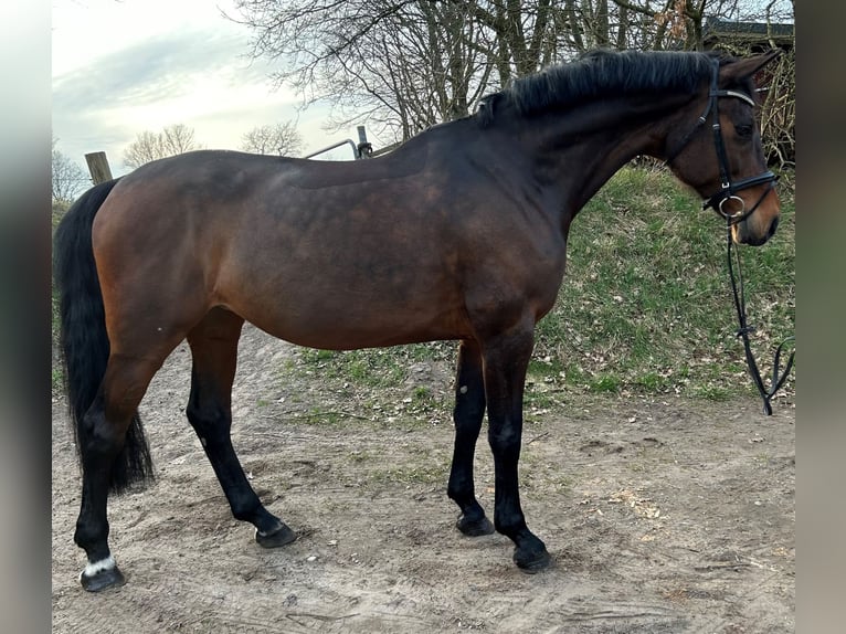
[[[572,398],[530,414],[524,508],[554,566],[526,575],[506,538],[453,528],[447,415],[389,426],[353,398],[316,424],[325,390],[283,383],[290,356],[245,329],[233,438],[299,539],[264,550],[232,519],[182,413],[180,347],[141,409],[158,483],[109,506],[128,583],[96,595],[76,581],[78,471],[55,398],[53,632],[793,632],[795,410]],[[450,370],[433,370],[448,390]],[[477,488],[493,513],[479,448]]]

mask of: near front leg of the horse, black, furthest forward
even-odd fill
[[[526,526],[520,507],[518,463],[522,436],[522,394],[533,347],[533,327],[520,326],[485,341],[488,442],[494,453],[497,531],[515,542],[514,561],[526,572],[547,568],[544,543]]]

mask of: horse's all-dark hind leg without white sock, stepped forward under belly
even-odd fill
[[[294,532],[264,508],[250,486],[232,446],[232,381],[244,320],[223,308],[212,309],[188,334],[193,367],[186,413],[236,519],[255,526],[256,541],[267,548],[294,541]]]

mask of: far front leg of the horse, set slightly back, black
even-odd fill
[[[462,509],[456,527],[470,537],[494,532],[494,525],[485,517],[485,510],[476,499],[473,482],[473,457],[484,416],[485,382],[482,373],[482,353],[476,341],[465,340],[458,348],[453,410],[455,447],[446,490]]]

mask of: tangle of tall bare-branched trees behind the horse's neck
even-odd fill
[[[701,49],[709,17],[792,11],[791,0],[235,0],[251,55],[334,123],[408,139],[466,116],[512,77],[599,46]],[[792,15],[792,12],[791,12]]]

